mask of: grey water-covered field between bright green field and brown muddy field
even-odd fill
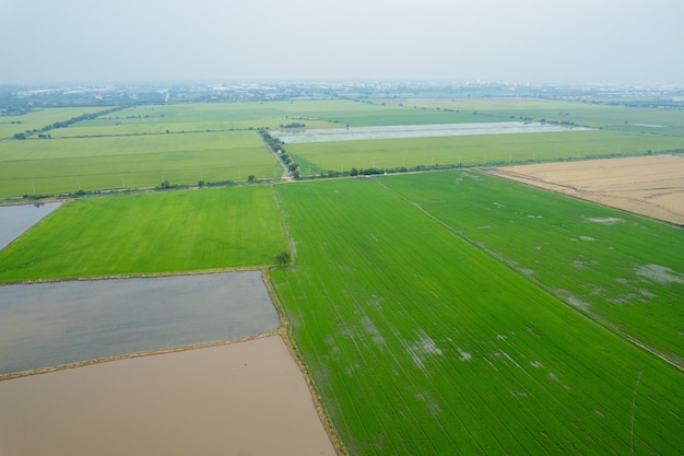
[[[0,376],[278,328],[260,271],[0,287]]]

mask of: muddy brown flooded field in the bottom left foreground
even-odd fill
[[[334,455],[280,336],[0,382],[2,455]]]

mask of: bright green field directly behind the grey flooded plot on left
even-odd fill
[[[0,253],[0,282],[257,267],[286,248],[267,186],[83,199]]]

